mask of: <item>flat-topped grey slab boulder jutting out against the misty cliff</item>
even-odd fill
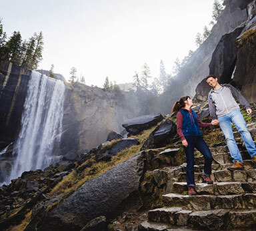
[[[163,120],[163,116],[159,115],[144,115],[136,118],[125,120],[122,126],[129,132],[129,134],[139,134],[141,131],[151,128]]]

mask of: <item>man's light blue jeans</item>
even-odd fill
[[[233,122],[237,130],[240,132],[243,138],[243,141],[245,142],[247,151],[249,152],[251,157],[255,156],[256,154],[255,144],[253,142],[253,138],[251,137],[251,134],[248,128],[246,127],[245,120],[240,111],[236,110],[225,116],[220,116],[218,120],[219,120],[219,126],[221,127],[221,130],[226,138],[227,146],[229,148],[229,152],[233,158],[233,161],[239,160],[240,162],[243,162],[243,159],[237,147],[237,144],[235,142],[231,122]]]

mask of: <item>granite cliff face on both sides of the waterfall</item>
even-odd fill
[[[1,61],[0,66],[0,148],[14,142],[21,126],[21,115],[31,71]],[[121,123],[137,116],[137,97],[129,92],[105,91],[81,83],[70,85],[65,94],[63,154],[82,151],[105,142],[111,130],[121,132]]]

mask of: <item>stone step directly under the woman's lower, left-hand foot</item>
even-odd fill
[[[239,195],[163,195],[165,206],[179,206],[185,210],[213,210],[213,209],[255,209],[256,194]]]

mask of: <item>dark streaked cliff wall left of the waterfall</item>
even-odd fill
[[[31,71],[0,61],[0,148],[17,138]]]

